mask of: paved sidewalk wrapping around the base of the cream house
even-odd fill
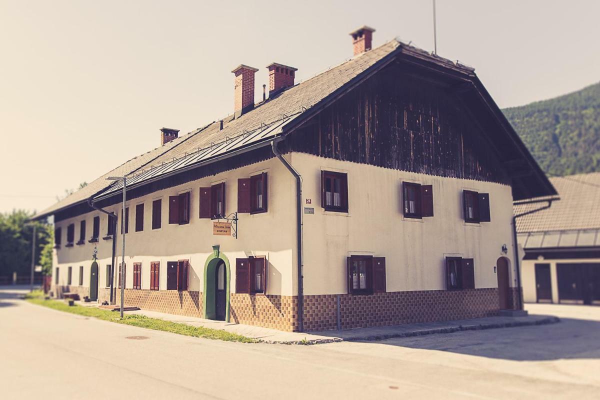
[[[283,332],[281,330],[263,328],[224,321],[205,320],[184,315],[165,314],[155,311],[127,311],[127,314],[145,315],[146,317],[203,326],[212,329],[226,330],[248,338],[259,339],[271,344],[322,344],[341,341],[373,341],[388,338],[431,335],[433,333],[452,333],[460,330],[495,329],[504,327],[542,325],[559,322],[559,318],[551,315],[528,315],[527,317],[487,317],[472,320],[441,321],[431,323],[404,324],[347,330],[325,330],[320,332]]]

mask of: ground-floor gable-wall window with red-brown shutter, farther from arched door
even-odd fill
[[[386,291],[385,257],[351,255],[346,262],[348,293],[373,294]]]

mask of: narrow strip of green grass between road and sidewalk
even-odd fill
[[[176,322],[149,318],[144,315],[124,315],[123,319],[119,317],[118,312],[95,307],[83,307],[79,305],[69,306],[61,300],[46,300],[41,291],[34,291],[26,294],[25,299],[33,304],[52,308],[58,311],[70,312],[71,314],[83,315],[84,317],[98,318],[103,321],[115,322],[118,324],[133,325],[142,328],[162,330],[163,332],[177,333],[178,335],[194,336],[196,338],[219,339],[228,342],[256,343],[257,339],[247,338],[236,333],[226,332],[224,330],[211,329],[205,327],[190,326]]]

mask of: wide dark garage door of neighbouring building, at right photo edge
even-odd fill
[[[600,305],[600,263],[556,264],[559,300]]]

